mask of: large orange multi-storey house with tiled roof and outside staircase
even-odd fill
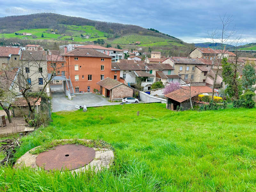
[[[71,95],[100,90],[97,82],[107,77],[115,78],[115,71],[111,71],[112,57],[107,54],[94,49],[76,48],[66,52],[64,57],[68,66],[65,76]]]

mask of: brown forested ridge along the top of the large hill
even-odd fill
[[[111,23],[96,20],[89,20],[81,17],[71,17],[55,13],[38,13],[30,15],[8,16],[0,18],[0,33],[13,33],[20,29],[33,28],[54,28],[60,32],[65,31],[65,25],[90,25],[96,29],[108,34],[112,34],[113,38],[118,38],[126,34],[140,34],[165,37],[172,40],[179,40],[173,36],[160,33],[157,30],[149,30],[136,25],[124,25],[121,23]]]

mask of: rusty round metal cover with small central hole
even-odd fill
[[[58,145],[36,157],[36,164],[45,170],[73,170],[90,163],[95,157],[93,148],[84,145]]]

